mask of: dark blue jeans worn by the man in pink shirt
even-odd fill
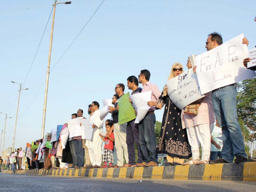
[[[148,113],[139,123],[139,142],[143,161],[157,162],[156,157],[156,134],[155,134],[156,116],[154,113]]]

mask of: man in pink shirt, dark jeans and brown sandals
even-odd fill
[[[139,123],[139,141],[143,162],[139,166],[157,166],[156,156],[156,134],[155,123],[156,104],[161,92],[155,84],[149,82],[150,72],[147,69],[141,70],[139,83],[143,85],[141,92],[152,91],[151,101],[148,101],[150,109],[142,121]]]

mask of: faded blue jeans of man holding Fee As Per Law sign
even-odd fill
[[[233,85],[212,92],[213,111],[222,128],[222,158],[229,163],[233,162],[234,156],[247,158],[236,113],[236,94]]]

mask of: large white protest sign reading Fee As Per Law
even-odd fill
[[[255,76],[254,71],[243,65],[243,60],[248,57],[243,38],[244,34],[239,35],[196,56],[196,74],[203,94]]]

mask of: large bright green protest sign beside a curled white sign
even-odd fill
[[[130,93],[124,94],[118,99],[118,124],[124,124],[136,118],[134,108],[129,102]]]

